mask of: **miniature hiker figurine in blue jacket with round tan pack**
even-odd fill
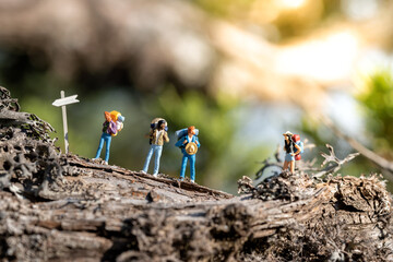
[[[201,146],[201,143],[198,140],[198,134],[199,130],[193,126],[189,127],[188,129],[176,131],[176,135],[178,136],[176,146],[180,147],[181,153],[183,154],[180,170],[181,180],[184,179],[187,160],[189,160],[191,182],[195,182],[195,154],[198,152],[198,147]]]

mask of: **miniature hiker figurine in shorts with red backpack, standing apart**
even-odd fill
[[[285,151],[285,160],[283,170],[288,169],[291,174],[295,172],[295,160],[301,159],[301,153],[303,152],[303,143],[300,141],[300,135],[293,134],[287,131],[284,134],[284,151]]]

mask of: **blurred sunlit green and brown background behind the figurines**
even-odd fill
[[[92,158],[105,110],[126,117],[109,164],[141,170],[150,121],[168,121],[160,172],[178,177],[174,132],[200,129],[196,182],[236,192],[287,130],[338,157],[353,148],[318,121],[393,160],[393,2],[388,0],[0,0],[0,85]],[[103,153],[104,155],[104,153]],[[151,163],[150,171],[152,171]],[[343,170],[381,170],[362,156]],[[187,171],[189,176],[189,171]]]

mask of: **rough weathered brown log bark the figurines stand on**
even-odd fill
[[[63,155],[0,90],[2,261],[389,261],[377,176],[281,174],[234,196]]]

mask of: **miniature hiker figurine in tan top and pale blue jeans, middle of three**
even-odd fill
[[[151,123],[151,131],[148,133],[151,148],[147,153],[146,160],[142,172],[147,172],[150,160],[155,154],[153,176],[158,175],[159,158],[163,153],[164,142],[169,142],[167,122],[163,118],[155,118]]]

